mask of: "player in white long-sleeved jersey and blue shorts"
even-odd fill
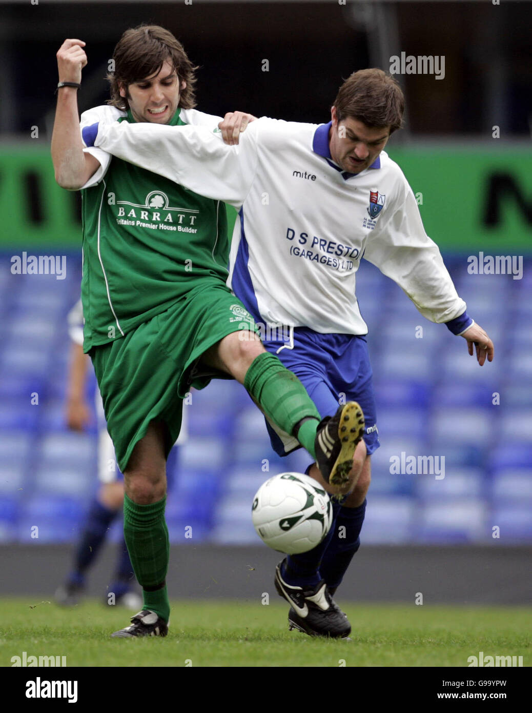
[[[383,150],[403,112],[397,82],[367,69],[340,87],[329,123],[260,118],[238,146],[194,126],[114,123],[93,130],[95,146],[239,209],[228,284],[264,324],[266,349],[303,381],[322,416],[335,412],[342,395],[364,411],[366,433],[329,537],[276,571],[278,593],[291,604],[291,627],[310,635],[349,632],[333,615],[330,597],[360,545],[370,456],[378,447],[367,325],[355,297],[361,258],[397,282],[424,317],[463,336],[480,365],[493,359],[491,339],[466,314],[424,231],[405,175]],[[297,447],[269,424],[268,430],[278,453]],[[308,472],[338,494],[315,464]]]

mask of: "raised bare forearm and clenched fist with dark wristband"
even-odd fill
[[[81,83],[81,70],[87,63],[84,46],[85,42],[77,39],[63,42],[56,55],[60,82]],[[100,167],[97,158],[83,152],[77,95],[75,87],[58,89],[51,145],[56,181],[70,190],[85,185]]]

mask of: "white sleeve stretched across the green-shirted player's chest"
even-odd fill
[[[95,145],[205,198],[238,208],[256,173],[259,123],[254,121],[241,133],[239,145],[229,146],[221,133],[203,126],[122,121],[100,125]]]

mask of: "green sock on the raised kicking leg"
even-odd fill
[[[288,371],[275,354],[259,354],[246,371],[244,388],[274,424],[293,434],[301,419],[297,438],[315,458],[314,440],[321,416],[296,374]],[[317,419],[317,420],[316,420]]]

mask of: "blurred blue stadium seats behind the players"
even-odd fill
[[[68,255],[67,277],[56,280],[11,275],[9,258],[0,254],[0,542],[68,542],[96,487],[95,424],[73,434],[64,418],[66,315],[80,260]],[[367,543],[492,543],[492,524],[505,541],[532,540],[532,271],[512,280],[469,275],[464,258],[447,264],[469,314],[496,342],[495,361],[482,368],[375,267],[363,261],[358,273],[382,443],[372,456]],[[276,473],[303,472],[311,457],[300,449],[278,458],[264,417],[234,381],[215,379],[190,400],[167,500],[170,538],[257,544],[254,493]],[[444,478],[390,473],[402,452],[444,456]]]

